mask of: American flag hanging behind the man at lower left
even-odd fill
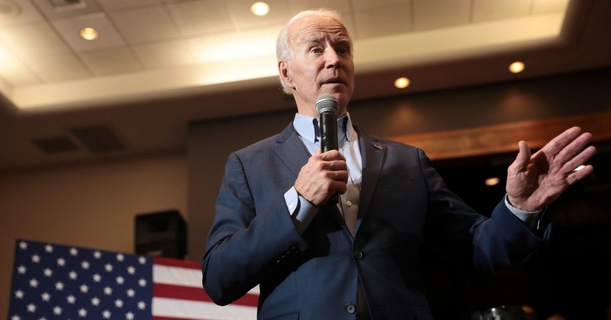
[[[258,287],[219,307],[196,262],[17,240],[10,320],[256,319]]]

